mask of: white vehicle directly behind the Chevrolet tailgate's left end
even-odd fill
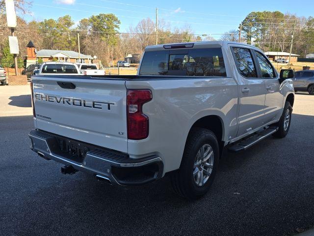
[[[78,65],[72,62],[44,62],[39,69],[34,70],[33,75],[82,75],[78,69]]]

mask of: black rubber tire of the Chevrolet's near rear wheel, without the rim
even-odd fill
[[[204,166],[208,171],[211,170],[211,174],[203,186],[198,186],[194,179],[196,175],[193,175],[193,171],[195,170],[194,163],[196,162],[199,150],[206,145],[210,146],[213,152],[213,155],[209,157],[212,160],[212,164],[210,164],[211,168]],[[201,160],[200,163],[202,163]],[[208,129],[193,128],[187,138],[180,169],[175,171],[171,176],[174,191],[181,197],[189,200],[202,197],[209,191],[216,174],[218,163],[219,146],[215,134]],[[205,169],[200,168],[200,170],[206,175],[207,172],[205,172]]]

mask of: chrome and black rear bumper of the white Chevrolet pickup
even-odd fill
[[[140,185],[162,177],[163,162],[156,155],[133,159],[122,152],[92,146],[42,130],[32,130],[28,136],[32,143],[30,148],[39,156],[71,165],[78,171],[90,173],[111,184]],[[75,142],[82,148],[88,147],[81,161],[74,161],[70,153],[61,151],[59,137],[69,143]]]

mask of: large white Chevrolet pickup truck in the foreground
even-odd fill
[[[133,76],[32,77],[31,149],[111,184],[165,174],[188,199],[204,195],[224,149],[287,135],[293,70],[235,42],[148,46]]]

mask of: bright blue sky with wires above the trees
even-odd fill
[[[30,15],[24,19],[57,19],[69,14],[75,22],[99,13],[113,13],[121,21],[120,32],[126,32],[130,26],[143,18],[155,21],[155,8],[159,19],[165,25],[178,28],[190,26],[195,34],[223,33],[237,29],[241,20],[251,11],[281,11],[297,16],[314,16],[313,0],[32,0]]]

